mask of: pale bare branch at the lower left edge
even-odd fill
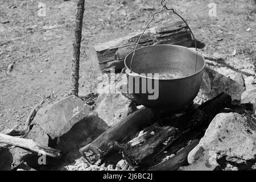
[[[18,146],[28,151],[44,154],[52,158],[60,158],[61,156],[60,150],[43,146],[42,144],[34,142],[32,139],[16,138],[6,134],[0,134],[0,144]]]

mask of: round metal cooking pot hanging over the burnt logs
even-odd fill
[[[129,53],[125,57],[129,93],[141,102],[142,105],[156,110],[178,110],[189,104],[199,92],[203,69],[204,57],[192,49],[174,45],[146,46]],[[132,72],[130,70],[133,57]],[[195,60],[197,60],[195,62]],[[148,73],[173,73],[179,72],[185,77],[180,78],[154,78]],[[144,73],[144,74],[142,74]],[[135,81],[137,79],[137,81]],[[138,81],[139,80],[139,81]],[[145,82],[146,81],[146,82]],[[158,82],[158,85],[157,85]],[[143,86],[154,88],[158,92],[156,99],[149,99],[152,92],[143,91]],[[137,93],[135,92],[135,88]],[[158,89],[158,90],[157,90]],[[157,93],[154,93],[157,94]]]

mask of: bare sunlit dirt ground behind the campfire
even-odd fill
[[[38,16],[39,3],[46,16]],[[167,0],[205,44],[207,55],[219,53],[227,65],[254,75],[256,62],[256,1]],[[216,3],[217,16],[209,16]],[[142,30],[159,1],[86,1],[80,62],[80,96],[93,92],[97,74],[86,50]],[[59,100],[71,82],[72,41],[76,1],[15,0],[0,2],[0,131],[23,123],[43,96]],[[177,19],[164,11],[150,26]],[[250,28],[250,29],[249,29]],[[236,52],[234,52],[236,50]],[[235,53],[235,54],[234,54]]]

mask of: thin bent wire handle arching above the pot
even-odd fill
[[[147,26],[144,28],[144,30],[143,30],[141,36],[139,37],[139,40],[138,40],[138,42],[137,42],[137,44],[136,44],[136,47],[135,47],[135,49],[134,49],[134,51],[133,51],[133,56],[131,57],[130,73],[132,72],[132,70],[131,70],[131,64],[133,63],[133,57],[134,57],[134,55],[135,55],[135,51],[137,50],[139,41],[141,40],[142,35],[144,34],[144,31],[147,29],[148,25],[149,25],[149,24],[152,22],[152,20],[155,18],[155,15],[156,15],[156,14],[161,13],[161,12],[163,11],[163,9],[165,8],[167,11],[172,11],[174,14],[176,14],[177,16],[179,16],[179,17],[183,20],[183,22],[188,26],[188,23],[187,23],[179,14],[177,14],[177,13],[174,11],[174,9],[168,9],[168,7],[167,7],[166,5],[163,5],[163,2],[164,2],[164,1],[166,1],[166,0],[162,0],[162,2],[161,2],[161,5],[162,5],[161,9],[160,9],[158,12],[156,12],[156,13],[153,14],[151,20],[147,23]],[[189,29],[189,31],[191,32],[191,34],[192,34],[192,36],[193,36],[193,39],[194,39],[194,42],[195,42],[195,48],[196,48],[196,65],[197,65],[197,46],[196,46],[196,39],[195,39],[195,36],[194,36],[193,32],[191,31],[191,28],[190,28],[189,26],[188,26],[188,29]],[[196,66],[195,66],[195,72],[196,72]]]

